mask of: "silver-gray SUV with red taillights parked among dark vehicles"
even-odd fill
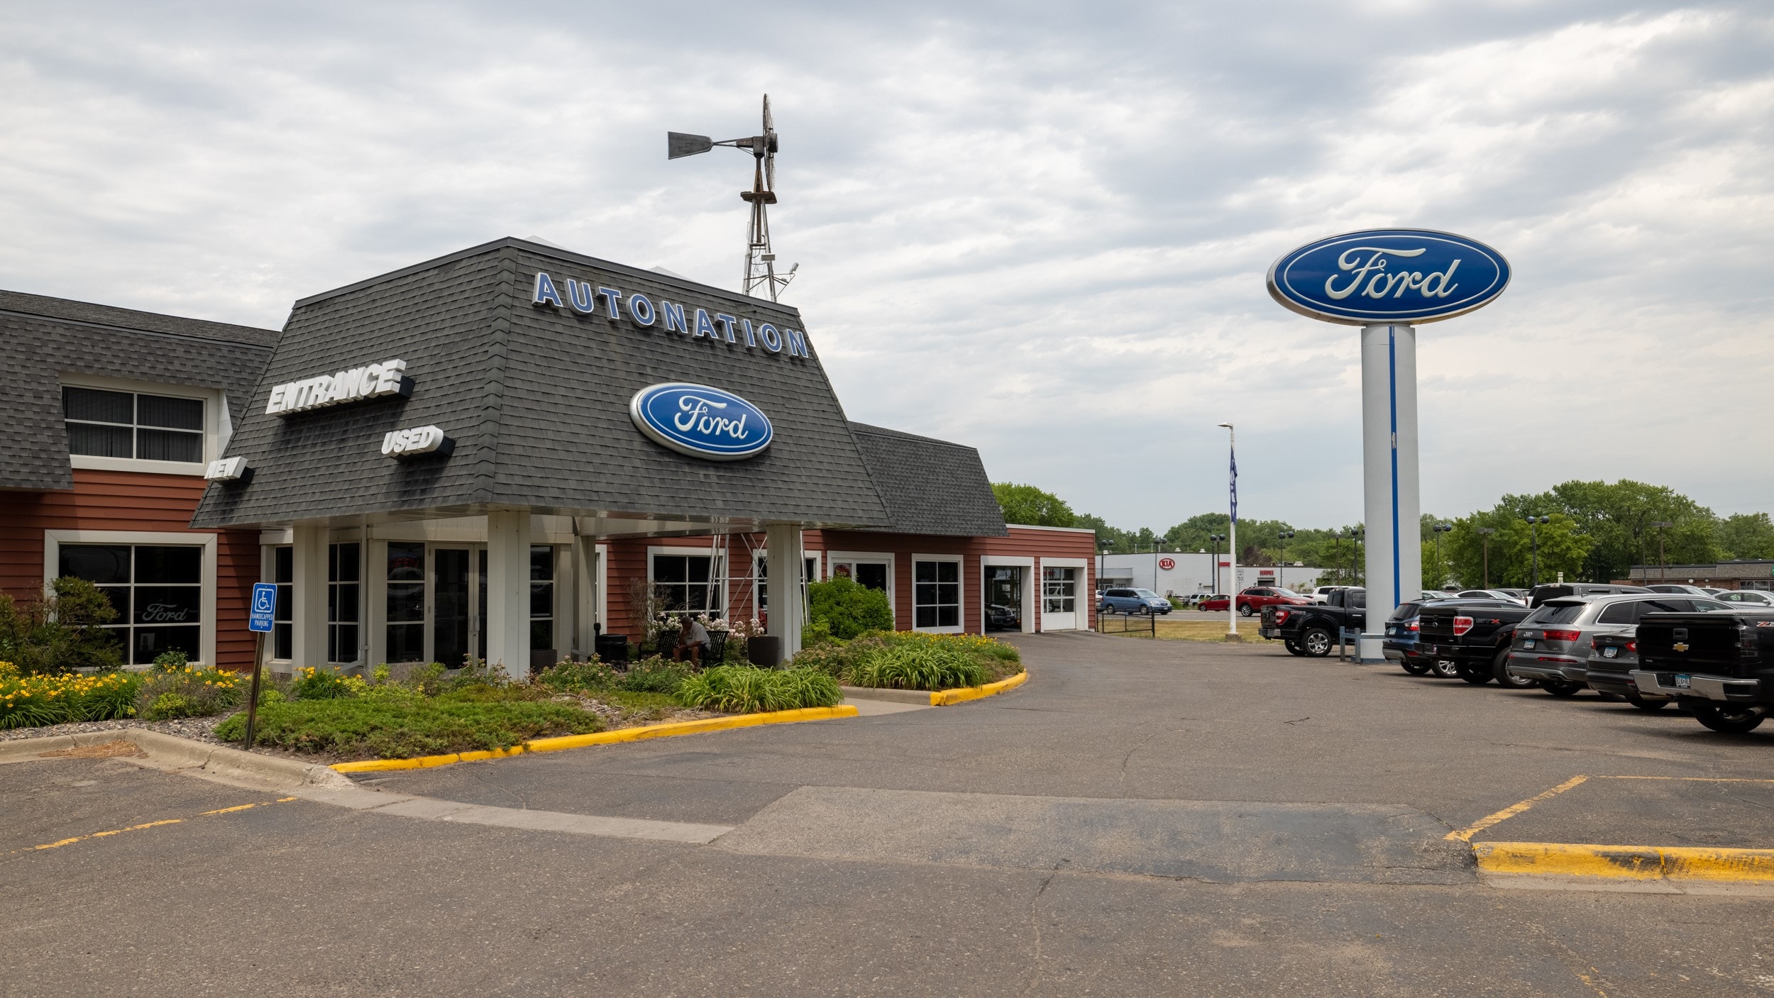
[[[1575,697],[1590,684],[1590,652],[1597,635],[1632,635],[1641,613],[1730,610],[1717,599],[1627,594],[1549,599],[1515,626],[1510,675],[1535,679],[1554,697]]]

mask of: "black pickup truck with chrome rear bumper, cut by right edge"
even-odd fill
[[[1774,610],[1646,613],[1637,642],[1641,695],[1673,697],[1728,734],[1754,730],[1774,711]]]

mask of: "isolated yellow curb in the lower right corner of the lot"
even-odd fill
[[[1478,856],[1478,869],[1487,874],[1630,881],[1774,881],[1774,849],[1480,842],[1472,846],[1472,854]]]

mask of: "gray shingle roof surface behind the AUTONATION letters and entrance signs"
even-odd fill
[[[303,298],[231,456],[247,482],[211,486],[193,526],[287,523],[493,505],[538,512],[679,514],[718,523],[880,526],[887,512],[832,386],[812,358],[578,317],[530,305],[536,271],[644,292],[754,323],[804,328],[793,308],[523,239],[497,239]],[[406,360],[410,399],[264,415],[273,385]],[[699,461],[644,438],[633,394],[662,381],[727,388],[775,427],[765,454]],[[383,433],[438,425],[449,459],[390,461]]]

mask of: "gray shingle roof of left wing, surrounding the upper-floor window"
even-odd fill
[[[222,388],[238,424],[275,330],[0,291],[0,487],[71,489],[64,374]]]

